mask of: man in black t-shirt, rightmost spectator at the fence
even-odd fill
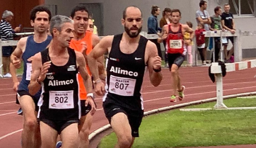
[[[229,4],[224,4],[224,11],[222,13],[222,27],[228,31],[230,31],[232,34],[235,33],[235,22],[233,18],[233,14],[229,12],[230,10],[230,5]],[[234,44],[234,37],[227,37],[227,40],[230,39],[232,44]],[[234,53],[234,46],[230,49],[230,52],[227,54],[227,44],[224,44],[224,55],[225,55],[225,62],[230,61],[230,57]]]

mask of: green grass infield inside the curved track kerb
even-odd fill
[[[216,102],[185,108],[208,108]],[[227,99],[228,107],[256,106],[255,99]],[[198,147],[256,144],[256,110],[171,110],[142,120],[133,148]],[[117,138],[106,136],[100,148],[113,148]]]

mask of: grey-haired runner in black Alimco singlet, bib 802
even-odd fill
[[[73,32],[74,24],[70,18],[54,16],[50,22],[52,45],[37,53],[32,60],[29,92],[34,95],[42,87],[38,113],[41,148],[55,147],[58,134],[63,148],[78,148],[81,107],[77,73],[83,77],[88,94],[92,92],[92,83],[83,54],[69,48]],[[87,95],[85,105],[88,103],[92,106],[91,114],[94,114],[94,101]]]

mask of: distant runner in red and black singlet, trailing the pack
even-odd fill
[[[180,24],[181,13],[178,9],[171,11],[172,23],[164,26],[162,30],[162,37],[158,38],[159,42],[166,40],[167,53],[168,53],[168,64],[169,70],[172,73],[172,91],[170,102],[176,102],[176,96],[178,99],[184,99],[185,86],[180,84],[180,76],[178,69],[185,60],[187,49],[184,48],[183,35],[185,32],[191,33],[190,40],[186,39],[186,43],[190,43],[194,37],[194,30],[191,29],[187,24]],[[176,91],[178,90],[178,91]]]

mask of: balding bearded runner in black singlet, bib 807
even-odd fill
[[[143,117],[143,99],[140,93],[146,65],[150,81],[158,86],[162,80],[161,58],[156,45],[139,35],[142,30],[142,12],[136,6],[123,11],[124,33],[104,37],[88,56],[88,65],[95,78],[95,92],[105,93],[99,79],[96,59],[106,52],[106,93],[103,109],[118,141],[115,148],[130,148],[135,137],[139,137],[139,126]]]

